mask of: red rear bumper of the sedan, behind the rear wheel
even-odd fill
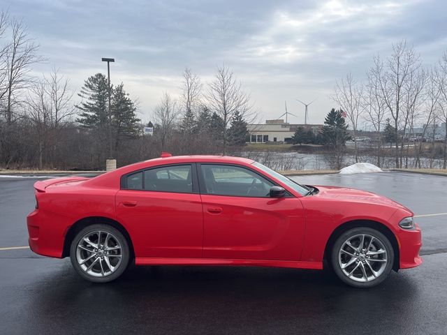
[[[54,220],[54,218],[53,218]],[[64,229],[52,224],[45,211],[35,209],[27,216],[28,244],[34,253],[61,258],[64,250]]]

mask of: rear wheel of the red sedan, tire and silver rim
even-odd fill
[[[70,258],[80,276],[94,283],[106,283],[121,276],[129,265],[129,244],[110,225],[89,225],[71,242]]]

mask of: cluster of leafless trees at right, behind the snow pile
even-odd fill
[[[358,161],[358,125],[366,121],[376,133],[376,165],[381,166],[386,142],[393,142],[396,168],[421,167],[425,144],[432,142],[431,153],[435,154],[434,129],[447,122],[447,52],[436,64],[423,66],[420,56],[412,45],[401,40],[392,45],[388,57],[377,54],[372,66],[366,71],[365,80],[356,80],[348,73],[335,84],[332,100],[346,113],[352,127],[354,156]],[[421,140],[415,138],[416,128]],[[447,133],[442,140],[443,168],[447,168]],[[409,158],[414,157],[413,166]]]

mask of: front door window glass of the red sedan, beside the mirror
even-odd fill
[[[231,165],[201,165],[207,194],[268,197],[270,181],[251,170]]]

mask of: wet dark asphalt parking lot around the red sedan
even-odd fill
[[[362,188],[412,209],[424,263],[369,290],[325,271],[133,267],[94,284],[68,258],[27,248],[33,178],[0,177],[0,334],[446,334],[447,177],[401,172],[297,176]]]

